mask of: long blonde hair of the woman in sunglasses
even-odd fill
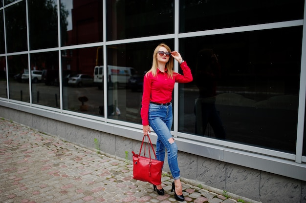
[[[155,77],[157,75],[157,58],[156,55],[158,54],[158,49],[160,47],[165,47],[167,49],[168,52],[171,52],[170,47],[165,44],[165,43],[160,43],[154,50],[153,52],[153,62],[152,62],[152,67],[151,69],[147,72],[146,76],[148,75],[148,73],[152,72],[153,77]],[[174,62],[172,59],[172,56],[170,55],[169,57],[169,61],[166,63],[166,68],[167,68],[167,72],[168,72],[168,78],[173,78],[173,72],[174,72]]]

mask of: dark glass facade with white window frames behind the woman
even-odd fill
[[[165,42],[194,77],[175,86],[175,137],[306,160],[304,3],[0,0],[0,100],[141,129]]]

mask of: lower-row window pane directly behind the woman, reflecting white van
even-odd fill
[[[172,49],[174,40],[163,41]],[[144,74],[151,69],[155,47],[160,41],[108,46],[109,118],[141,123],[140,109]]]

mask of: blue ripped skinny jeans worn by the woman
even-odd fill
[[[172,122],[172,104],[169,106],[162,106],[150,103],[149,124],[157,134],[156,159],[164,161],[166,154],[165,149],[167,149],[169,168],[173,179],[177,180],[180,177],[177,163],[177,145],[175,142],[169,142],[169,139],[173,138],[170,133]]]

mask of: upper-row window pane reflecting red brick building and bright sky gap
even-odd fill
[[[62,46],[103,41],[102,0],[61,0]]]

